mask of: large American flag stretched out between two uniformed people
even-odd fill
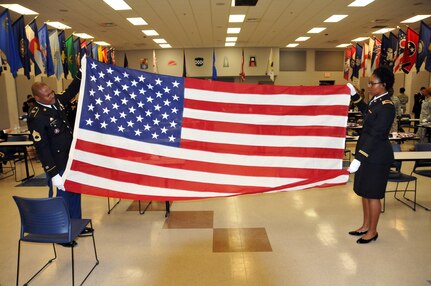
[[[66,189],[182,200],[344,184],[346,85],[224,83],[84,59]]]

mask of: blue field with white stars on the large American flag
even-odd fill
[[[184,78],[107,65],[87,58],[80,128],[178,147]]]

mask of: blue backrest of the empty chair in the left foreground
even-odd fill
[[[70,215],[63,198],[13,198],[21,216],[21,238],[26,233],[70,233]]]

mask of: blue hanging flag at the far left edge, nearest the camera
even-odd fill
[[[12,30],[8,9],[0,14],[0,50],[5,53],[7,62],[10,66],[10,72],[13,77],[16,77],[18,69],[22,68],[22,64],[21,59],[19,58],[15,34]]]

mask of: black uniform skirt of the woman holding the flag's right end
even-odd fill
[[[375,164],[365,161],[355,173],[353,190],[367,199],[383,199],[388,184],[391,164]]]

